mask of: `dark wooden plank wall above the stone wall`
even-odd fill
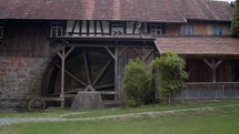
[[[50,56],[50,21],[8,20],[0,56]]]

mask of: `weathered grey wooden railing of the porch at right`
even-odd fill
[[[230,100],[239,99],[239,82],[186,83],[177,100]]]

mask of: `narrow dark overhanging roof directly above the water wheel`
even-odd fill
[[[150,35],[102,35],[102,37],[59,37],[48,38],[51,45],[78,45],[78,47],[117,47],[117,45],[152,45],[155,38]]]

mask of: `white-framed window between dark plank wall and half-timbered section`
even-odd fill
[[[52,22],[51,23],[51,37],[62,37],[63,34],[63,23],[62,22]]]

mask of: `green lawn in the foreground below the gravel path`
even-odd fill
[[[57,123],[22,123],[0,127],[0,134],[237,134],[239,106],[197,112]]]

